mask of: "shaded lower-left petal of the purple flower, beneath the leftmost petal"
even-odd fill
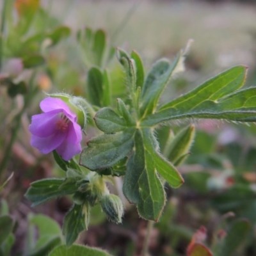
[[[48,154],[58,148],[65,140],[67,132],[55,132],[49,137],[40,138],[32,134],[30,144],[37,148],[42,154]]]

